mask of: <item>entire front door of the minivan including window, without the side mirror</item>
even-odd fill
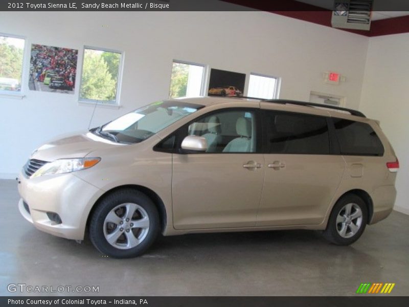
[[[256,225],[264,180],[258,111],[223,108],[181,128],[179,139],[199,136],[208,147],[173,154],[175,229]]]

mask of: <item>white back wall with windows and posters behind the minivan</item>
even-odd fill
[[[167,98],[172,59],[278,76],[280,98],[308,101],[310,91],[323,92],[357,108],[369,40],[267,12],[0,12],[0,32],[24,35],[29,45],[79,49],[80,59],[84,45],[125,52],[122,107],[98,107],[93,126]],[[328,70],[347,81],[325,84]],[[22,100],[0,97],[0,177],[13,177],[48,139],[87,128],[93,108],[78,105],[79,80],[75,95],[26,90]]]

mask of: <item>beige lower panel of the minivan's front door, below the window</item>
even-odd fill
[[[247,164],[261,164],[261,167]],[[174,154],[174,228],[255,226],[264,179],[263,164],[263,155],[257,153]]]

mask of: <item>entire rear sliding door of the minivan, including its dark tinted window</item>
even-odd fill
[[[321,224],[345,170],[343,157],[331,155],[327,117],[263,114],[267,167],[256,226]]]

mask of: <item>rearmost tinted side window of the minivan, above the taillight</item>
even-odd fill
[[[342,155],[383,156],[383,145],[367,123],[334,118],[336,137]]]

